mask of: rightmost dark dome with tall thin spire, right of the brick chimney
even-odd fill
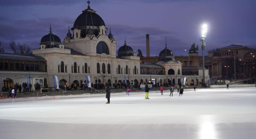
[[[174,59],[174,55],[173,55],[173,51],[169,50],[167,48],[167,44],[166,44],[166,37],[165,37],[165,48],[164,50],[162,50],[160,53],[159,53],[159,59],[158,61],[164,61],[164,62],[167,62],[167,61],[175,61]]]

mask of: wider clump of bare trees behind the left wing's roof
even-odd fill
[[[15,54],[30,54],[31,53],[31,48],[28,44],[16,44],[15,41],[11,40],[10,41],[10,48]]]

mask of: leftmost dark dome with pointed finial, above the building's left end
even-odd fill
[[[61,39],[52,33],[51,24],[50,24],[50,33],[42,37],[40,45],[41,45],[41,49],[64,48],[64,46],[61,44]]]

